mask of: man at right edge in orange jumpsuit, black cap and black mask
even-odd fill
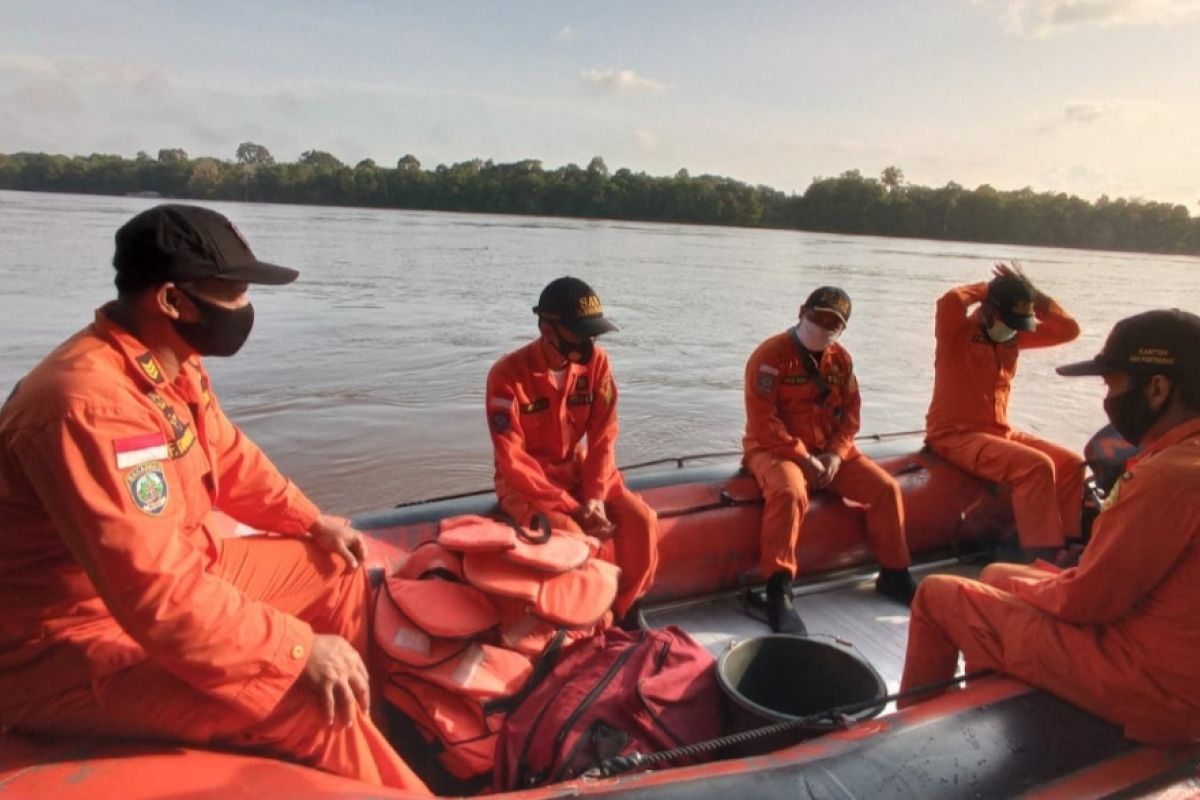
[[[1121,320],[1091,361],[1104,410],[1140,445],[1079,565],[992,564],[917,591],[901,691],[998,669],[1153,745],[1200,741],[1200,317]],[[914,700],[907,700],[912,703]]]

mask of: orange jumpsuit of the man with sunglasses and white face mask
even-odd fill
[[[842,464],[829,488],[866,505],[866,535],[884,567],[908,566],[900,487],[854,446],[862,398],[850,354],[832,344],[817,366],[796,341],[794,329],[778,333],[754,351],[745,374],[746,467],[762,487],[764,576],[796,577],[796,543],[809,507],[798,459],[836,453]]]

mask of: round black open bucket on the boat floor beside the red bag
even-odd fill
[[[858,651],[808,637],[775,634],[739,642],[718,658],[716,678],[736,706],[736,727],[743,730],[869,703],[847,714],[860,722],[886,705],[883,679]],[[803,727],[824,733],[839,726],[830,720]]]

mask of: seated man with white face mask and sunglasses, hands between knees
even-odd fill
[[[799,324],[760,344],[746,362],[742,446],[766,500],[761,565],[767,618],[776,632],[805,632],[791,582],[809,487],[866,506],[880,594],[907,603],[917,588],[908,573],[900,487],[854,445],[862,398],[850,353],[838,343],[850,309],[841,289],[816,289],[800,306]]]

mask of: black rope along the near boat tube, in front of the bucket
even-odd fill
[[[635,751],[626,756],[613,756],[612,758],[606,758],[592,769],[587,770],[581,777],[588,780],[600,780],[612,777],[613,775],[622,775],[624,772],[629,772],[630,770],[650,769],[658,766],[659,764],[678,760],[680,758],[692,758],[704,753],[721,751],[733,745],[744,745],[758,739],[767,739],[769,736],[776,736],[793,730],[808,729],[818,722],[828,722],[829,720],[836,722],[841,728],[848,728],[854,724],[854,720],[850,716],[851,714],[865,711],[866,709],[871,709],[877,705],[887,705],[894,700],[905,700],[911,697],[928,694],[929,692],[942,691],[952,686],[956,686],[958,684],[964,684],[968,680],[976,680],[977,678],[990,675],[991,672],[991,669],[980,669],[973,673],[955,675],[949,680],[938,681],[936,684],[916,686],[902,692],[884,694],[883,697],[872,698],[870,700],[845,703],[824,711],[817,711],[803,717],[796,717],[794,720],[787,720],[786,722],[776,722],[775,724],[769,724],[762,728],[732,733],[725,736],[718,736],[716,739],[708,739],[707,741],[697,741],[694,745],[662,750],[656,753],[640,753]]]

